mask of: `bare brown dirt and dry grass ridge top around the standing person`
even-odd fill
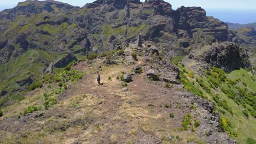
[[[45,111],[43,117],[24,117],[24,121],[19,119],[18,122],[16,118],[9,119],[7,122],[19,128],[4,131],[29,133],[32,136],[26,137],[25,143],[38,140],[44,143],[162,143],[163,140],[187,143],[183,139],[166,140],[168,134],[197,139],[195,133],[178,131],[183,117],[191,112],[189,100],[180,94],[186,92],[177,91],[176,86],[165,88],[163,82],[150,81],[146,70],[133,75],[133,81],[128,83],[126,91],[123,90],[116,77],[137,64],[143,61],[102,68],[80,62],[74,69],[88,74],[61,93],[58,104]],[[97,84],[97,70],[100,70],[103,85]]]

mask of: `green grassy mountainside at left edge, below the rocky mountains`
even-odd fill
[[[16,81],[26,80],[29,76],[34,81],[32,86],[30,86],[29,91],[34,88],[41,87],[43,79],[43,72],[38,69],[47,68],[45,63],[53,62],[55,56],[59,55],[58,52],[46,52],[44,50],[28,50],[27,52],[20,55],[18,58],[10,58],[10,61],[0,65],[0,92],[8,91],[11,92],[14,89],[25,89],[29,87],[29,83],[24,86],[19,86]],[[11,75],[10,75],[11,74]],[[39,85],[40,84],[40,85]],[[13,103],[14,101],[20,101],[24,99],[24,94],[26,92],[8,93],[0,100],[0,105],[5,106],[8,103]]]

